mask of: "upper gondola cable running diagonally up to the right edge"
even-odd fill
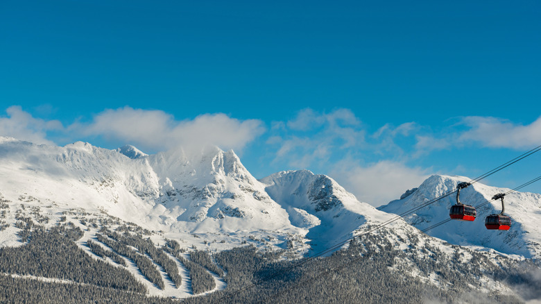
[[[495,174],[498,171],[501,171],[502,169],[505,169],[506,167],[509,167],[511,164],[515,164],[516,162],[519,162],[520,160],[523,160],[524,158],[527,158],[528,156],[530,156],[533,153],[536,153],[538,151],[541,151],[541,145],[536,146],[535,148],[533,148],[533,149],[531,149],[531,150],[529,150],[529,151],[527,151],[525,153],[522,153],[521,155],[517,156],[516,158],[513,158],[512,160],[509,160],[508,162],[505,162],[504,164],[499,165],[495,169],[492,169],[492,170],[486,172],[485,174],[482,174],[481,176],[478,176],[477,178],[474,178],[473,180],[470,180],[469,183],[470,183],[470,185],[473,185],[474,183],[479,182],[479,180],[483,180],[483,178],[487,178],[488,176],[491,176],[492,174]],[[311,255],[310,257],[305,257],[305,258],[301,259],[299,262],[297,262],[297,263],[295,263],[295,264],[293,264],[293,265],[291,265],[289,267],[286,267],[285,269],[282,269],[281,271],[277,271],[276,273],[271,273],[268,276],[265,276],[265,277],[257,280],[256,282],[254,282],[254,283],[252,283],[250,285],[247,285],[246,287],[242,287],[241,289],[237,289],[237,291],[231,292],[230,294],[227,294],[227,295],[219,298],[218,301],[216,301],[214,303],[219,303],[219,302],[223,301],[225,298],[230,298],[231,296],[234,296],[235,294],[239,294],[240,292],[243,292],[244,290],[251,289],[252,287],[255,287],[256,285],[259,285],[261,282],[264,282],[264,281],[269,280],[271,278],[275,278],[276,276],[279,276],[280,274],[285,273],[286,271],[294,269],[294,268],[298,267],[301,264],[304,264],[306,262],[314,260],[316,257],[320,257],[321,255],[325,255],[326,253],[335,251],[336,249],[340,248],[341,246],[343,246],[347,242],[350,242],[350,240],[355,239],[356,237],[361,237],[363,235],[367,235],[368,233],[372,233],[372,232],[374,232],[376,230],[379,230],[380,228],[382,228],[384,226],[387,226],[388,224],[393,223],[393,222],[397,221],[398,219],[402,219],[402,217],[404,217],[404,215],[411,214],[411,213],[413,213],[415,211],[418,211],[418,210],[426,207],[427,205],[431,205],[433,203],[436,203],[436,201],[440,201],[441,199],[444,199],[445,197],[453,194],[456,191],[457,191],[457,189],[449,190],[448,192],[446,192],[444,194],[441,194],[440,196],[436,197],[435,199],[431,199],[430,201],[427,201],[426,203],[422,203],[421,205],[418,205],[415,208],[412,208],[411,210],[406,210],[405,212],[402,212],[402,214],[397,214],[396,217],[393,217],[391,219],[388,219],[387,221],[379,223],[378,225],[375,226],[375,228],[371,228],[370,230],[366,231],[365,233],[362,233],[360,235],[355,235],[354,237],[350,237],[348,239],[345,239],[345,241],[338,242],[334,246],[331,246],[331,247],[325,249],[324,251],[320,251],[319,253]],[[448,219],[448,220],[450,221],[450,219]],[[445,221],[445,223],[446,222],[447,221]]]

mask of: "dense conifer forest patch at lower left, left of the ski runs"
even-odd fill
[[[34,226],[25,233],[28,244],[0,248],[0,273],[60,278],[78,283],[146,293],[146,287],[126,269],[94,260],[73,242],[83,231],[69,225],[44,230]]]

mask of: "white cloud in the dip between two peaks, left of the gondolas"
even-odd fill
[[[411,168],[391,160],[381,160],[366,167],[343,160],[329,175],[359,201],[377,207],[400,199],[407,189],[418,187],[429,173],[427,169]]]

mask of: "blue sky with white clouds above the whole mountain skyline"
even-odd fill
[[[541,144],[539,1],[335,2],[2,1],[0,135],[212,143],[375,205]]]

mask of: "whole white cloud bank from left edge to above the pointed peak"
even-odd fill
[[[8,108],[6,113],[6,117],[0,117],[0,136],[15,137],[35,144],[55,144],[47,138],[47,133],[58,131],[70,140],[103,137],[119,144],[135,144],[141,149],[153,151],[176,146],[200,149],[209,144],[222,149],[241,150],[265,132],[262,121],[241,121],[221,113],[177,121],[161,110],[124,107],[104,110],[89,123],[75,122],[67,128],[58,120],[35,118],[17,105]]]

